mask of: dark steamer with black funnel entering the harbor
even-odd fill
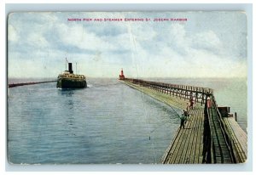
[[[58,76],[56,87],[87,88],[87,82],[84,75],[74,74],[72,70],[72,63],[68,63],[68,71],[64,71]]]

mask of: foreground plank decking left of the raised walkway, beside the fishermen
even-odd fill
[[[204,110],[196,105],[189,111],[185,128],[178,128],[171,147],[166,150],[162,163],[191,164],[203,161]]]

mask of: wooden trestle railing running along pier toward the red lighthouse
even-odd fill
[[[207,96],[213,95],[212,88],[201,88],[164,82],[150,82],[132,78],[125,78],[125,81],[138,84],[143,87],[153,88],[156,91],[177,96],[180,99],[193,99],[195,102],[201,102],[201,104],[206,102]]]

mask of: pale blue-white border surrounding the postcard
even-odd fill
[[[6,17],[9,12],[12,11],[136,11],[136,10],[172,10],[172,11],[184,11],[184,10],[245,10],[247,12],[247,21],[248,21],[248,160],[246,164],[236,164],[236,165],[45,165],[45,166],[12,166],[6,160],[6,100],[1,101],[1,133],[2,135],[2,144],[1,144],[1,154],[2,159],[0,162],[1,172],[45,172],[45,171],[54,171],[54,172],[76,172],[76,171],[88,171],[88,172],[118,172],[118,171],[127,171],[127,172],[168,172],[168,171],[182,171],[182,172],[201,172],[201,171],[222,171],[222,172],[243,172],[243,171],[252,171],[253,170],[253,99],[255,99],[255,94],[253,94],[253,32],[252,32],[252,24],[253,24],[253,5],[245,4],[245,3],[253,3],[253,1],[241,1],[240,3],[235,3],[232,1],[214,1],[207,4],[196,4],[196,3],[205,3],[203,1],[194,1],[190,3],[190,1],[178,1],[179,4],[171,4],[166,1],[158,0],[156,4],[135,4],[141,3],[141,1],[129,1],[129,4],[117,4],[119,1],[112,1],[112,3],[107,3],[106,1],[89,1],[94,4],[86,3],[83,1],[73,0],[61,1],[61,4],[56,1],[49,1],[51,4],[35,4],[35,3],[44,3],[47,1],[1,1],[1,21],[5,23],[5,27],[2,27],[1,30],[1,84],[3,85],[5,82],[5,87],[3,87],[0,93],[1,97],[6,98]],[[70,3],[72,2],[72,3]],[[87,1],[88,2],[88,1]],[[173,2],[173,1],[172,1]],[[184,3],[185,2],[185,3]],[[208,2],[208,1],[207,1]],[[6,3],[15,3],[15,4],[6,4]],[[34,4],[25,4],[25,3],[34,3]],[[64,4],[66,3],[66,4]],[[81,4],[74,4],[81,3]],[[105,4],[96,4],[96,3],[105,3]],[[127,2],[126,2],[127,3]],[[131,4],[134,3],[134,4]],[[147,3],[155,3],[154,1],[147,1]],[[161,3],[161,4],[160,4]],[[183,4],[182,4],[183,3]],[[219,4],[216,4],[219,3]],[[234,3],[234,4],[227,4]],[[5,11],[5,14],[3,14]],[[255,15],[255,14],[254,14]],[[253,24],[255,25],[255,23]],[[255,27],[254,27],[255,28]],[[2,47],[3,46],[3,47]],[[255,46],[254,46],[255,47]],[[255,49],[254,49],[255,50]],[[3,99],[5,99],[3,98]],[[255,125],[254,125],[255,126]],[[4,144],[3,144],[4,143]],[[255,145],[255,144],[254,144]],[[3,168],[3,170],[2,170]],[[26,173],[27,173],[26,172]],[[1,173],[2,174],[2,173]]]

